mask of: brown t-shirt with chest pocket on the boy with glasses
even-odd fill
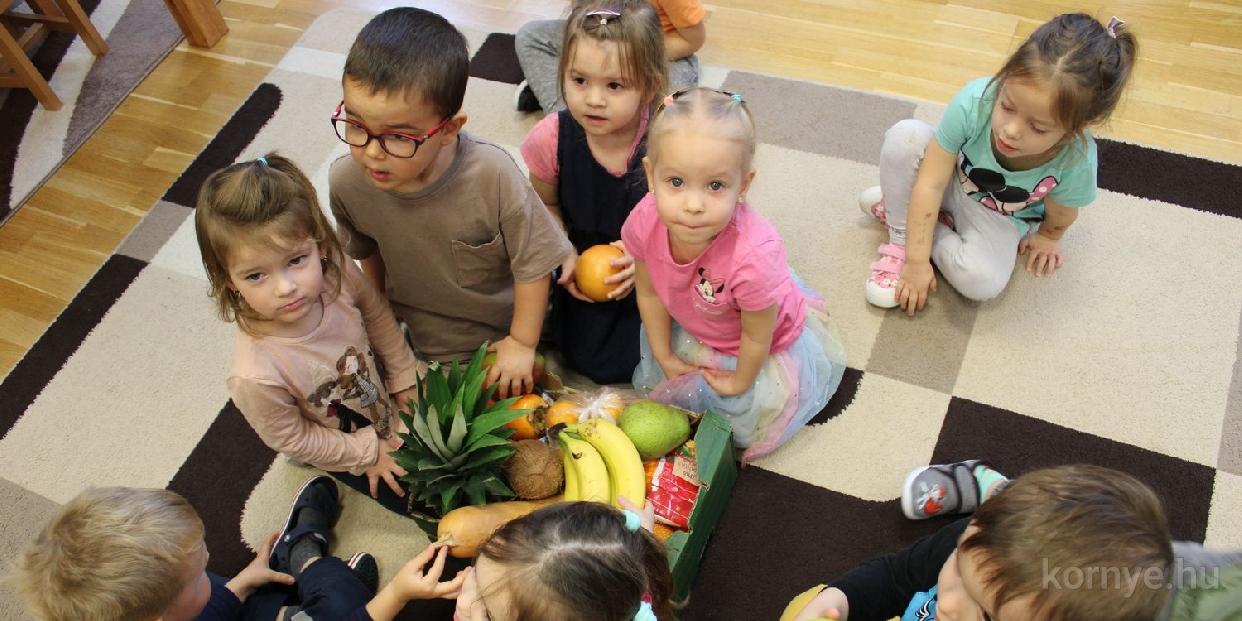
[[[376,189],[348,155],[329,175],[345,252],[380,253],[392,310],[428,360],[465,359],[508,335],[513,283],[550,274],[573,252],[508,152],[466,133],[456,149],[443,176],[415,193]]]

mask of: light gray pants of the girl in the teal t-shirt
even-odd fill
[[[923,153],[934,139],[932,125],[915,119],[899,120],[884,133],[884,147],[879,150],[879,188],[884,194],[892,243],[905,245],[910,193]],[[932,261],[963,296],[975,301],[995,298],[1013,274],[1022,232],[1009,216],[971,199],[961,189],[956,174],[949,179],[940,209],[953,216],[954,229],[936,222]]]

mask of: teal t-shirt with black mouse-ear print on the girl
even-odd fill
[[[992,152],[992,104],[996,87],[989,78],[971,81],[949,102],[935,139],[958,154],[954,178],[980,204],[1010,216],[1022,232],[1043,220],[1043,199],[1067,207],[1095,200],[1095,139],[1072,140],[1054,158],[1030,170],[1007,170]]]

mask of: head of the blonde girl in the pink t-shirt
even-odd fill
[[[647,186],[674,247],[705,248],[755,176],[755,120],[740,94],[694,87],[664,98],[647,134]]]

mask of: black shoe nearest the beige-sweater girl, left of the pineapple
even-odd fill
[[[306,559],[293,559],[293,548],[304,538],[318,542],[319,555],[328,554],[332,528],[340,517],[340,492],[337,482],[328,476],[314,477],[302,484],[293,497],[289,517],[272,545],[267,566],[297,578]]]

